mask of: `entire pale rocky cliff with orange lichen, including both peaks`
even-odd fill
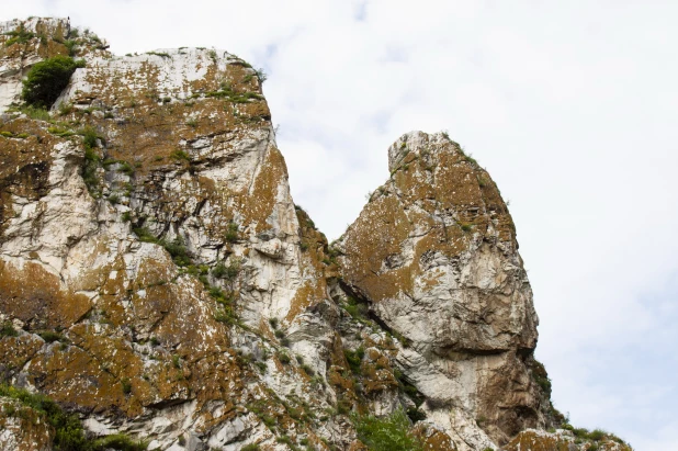
[[[513,222],[447,135],[396,140],[329,246],[242,59],[114,56],[65,20],[0,32],[7,383],[148,449],[381,449],[378,421],[398,449],[625,449],[553,409]],[[21,80],[57,55],[84,67],[49,112],[26,108]],[[4,409],[5,449],[52,449],[33,407]]]

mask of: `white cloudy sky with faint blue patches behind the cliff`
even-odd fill
[[[118,54],[205,46],[269,74],[290,183],[328,238],[447,129],[510,200],[556,406],[678,449],[678,2],[5,0]]]

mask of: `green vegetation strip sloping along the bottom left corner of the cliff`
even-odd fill
[[[53,449],[55,451],[143,451],[148,444],[144,441],[134,441],[127,436],[118,433],[100,439],[89,439],[77,415],[65,413],[58,404],[41,394],[33,394],[26,390],[0,384],[0,396],[19,401],[43,415],[46,422],[54,428]],[[5,414],[9,413],[5,410]],[[12,411],[20,416],[21,410]]]

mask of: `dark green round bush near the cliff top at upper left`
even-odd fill
[[[52,106],[79,67],[84,67],[83,60],[63,55],[36,63],[23,81],[22,99],[32,106]]]

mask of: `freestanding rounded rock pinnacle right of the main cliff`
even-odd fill
[[[497,187],[441,133],[400,137],[388,169],[337,246],[343,281],[411,343],[398,367],[451,433],[482,449],[544,427],[538,319]]]

